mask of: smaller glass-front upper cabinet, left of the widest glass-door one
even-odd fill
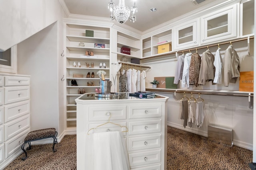
[[[199,45],[199,20],[189,20],[173,27],[173,49],[184,49]]]

